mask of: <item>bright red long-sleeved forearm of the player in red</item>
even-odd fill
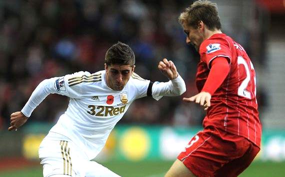
[[[229,64],[226,58],[215,58],[212,61],[208,78],[201,92],[208,92],[212,95],[216,89],[222,84],[229,72]]]

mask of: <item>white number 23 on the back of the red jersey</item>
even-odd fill
[[[239,96],[251,99],[251,93],[254,96],[256,95],[256,86],[255,86],[256,85],[256,79],[255,79],[255,71],[254,71],[253,65],[252,65],[250,60],[248,60],[248,61],[249,61],[249,64],[250,64],[250,69],[249,69],[249,66],[248,66],[248,62],[246,62],[246,60],[244,58],[242,58],[241,56],[237,57],[237,64],[244,66],[245,74],[246,74],[245,79],[241,82],[241,84],[238,87],[237,94]],[[249,81],[250,81],[250,79],[252,77],[250,73],[252,74],[253,80],[254,80],[253,88],[252,88],[252,85],[250,85],[250,87],[248,88],[248,83],[249,83]]]

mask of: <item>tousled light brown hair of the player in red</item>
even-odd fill
[[[185,10],[178,17],[180,24],[185,23],[187,26],[198,27],[199,21],[202,21],[209,30],[220,29],[221,24],[217,13],[216,3],[208,0],[198,0]]]

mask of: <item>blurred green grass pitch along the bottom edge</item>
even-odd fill
[[[163,177],[171,166],[172,161],[162,162],[108,162],[102,163],[122,177]],[[285,177],[285,162],[255,162],[249,166],[239,177]],[[28,169],[12,169],[0,172],[0,177],[42,177],[41,167]]]

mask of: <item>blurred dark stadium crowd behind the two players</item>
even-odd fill
[[[166,81],[157,69],[166,57],[186,82],[184,96],[197,93],[194,73],[199,56],[185,44],[177,22],[179,11],[190,1],[0,1],[0,130],[8,127],[10,113],[21,110],[40,81],[81,70],[103,70],[104,54],[117,41],[133,49],[135,72],[142,78]],[[248,33],[231,36],[250,55],[256,50],[246,43]],[[201,125],[203,109],[181,98],[163,98],[159,103],[151,98],[137,100],[119,123]],[[54,122],[67,104],[67,97],[50,95],[28,122]]]

